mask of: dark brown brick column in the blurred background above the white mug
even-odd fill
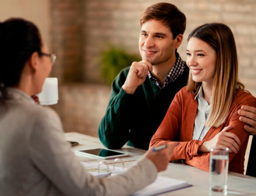
[[[57,54],[51,76],[60,83],[82,80],[83,3],[83,0],[51,0],[51,49]]]

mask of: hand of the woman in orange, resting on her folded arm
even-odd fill
[[[239,146],[241,145],[240,139],[236,134],[228,133],[232,129],[232,125],[226,126],[210,141],[204,142],[199,148],[199,153],[209,153],[211,148],[219,147],[221,149],[229,148],[229,153],[238,153]]]

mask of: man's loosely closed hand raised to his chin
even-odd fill
[[[143,84],[148,71],[153,71],[153,66],[148,60],[133,62],[122,89],[133,95],[139,85]]]

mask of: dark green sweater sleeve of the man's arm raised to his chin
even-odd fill
[[[98,129],[102,144],[110,149],[121,148],[130,139],[133,95],[125,93],[125,69],[113,81],[109,105]]]

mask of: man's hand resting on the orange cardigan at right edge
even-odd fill
[[[241,109],[238,111],[238,114],[241,115],[239,120],[249,124],[249,126],[244,125],[244,129],[251,135],[256,135],[256,108],[242,105]]]

